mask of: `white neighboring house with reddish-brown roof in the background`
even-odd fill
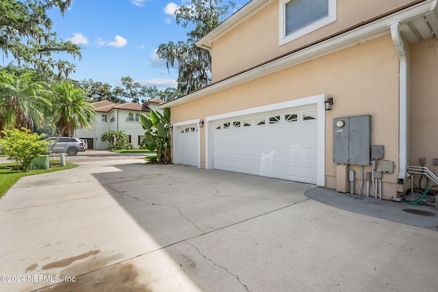
[[[139,148],[144,138],[144,129],[139,121],[140,114],[149,114],[151,109],[159,110],[158,106],[164,102],[155,98],[143,105],[138,103],[120,105],[111,101],[92,103],[96,109],[96,124],[91,130],[77,129],[76,137],[87,140],[88,149],[105,150],[110,144],[101,142],[102,134],[107,131],[124,130],[129,135],[129,143]]]

